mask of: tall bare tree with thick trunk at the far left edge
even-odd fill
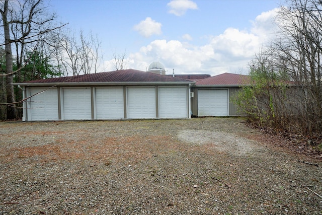
[[[6,51],[6,94],[7,94],[7,119],[17,118],[15,108],[15,92],[12,85],[14,74],[21,81],[20,71],[24,66],[24,53],[26,50],[34,50],[39,41],[45,41],[45,35],[60,27],[52,27],[55,16],[47,13],[42,0],[24,1],[0,1],[0,13],[2,16],[4,46]],[[14,60],[12,44],[15,45],[17,69],[13,69]]]

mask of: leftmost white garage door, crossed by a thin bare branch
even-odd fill
[[[43,91],[40,94],[39,92]],[[37,94],[37,95],[35,95]],[[30,89],[27,109],[28,120],[57,120],[58,119],[58,94],[57,88]]]

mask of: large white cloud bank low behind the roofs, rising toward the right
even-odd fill
[[[154,40],[130,53],[127,67],[145,70],[152,61],[160,61],[168,74],[172,74],[173,68],[176,74],[247,74],[249,62],[269,41],[267,35],[274,35],[275,14],[276,10],[262,13],[252,22],[252,29],[227,28],[199,46],[190,42],[189,34],[181,37],[183,41]]]

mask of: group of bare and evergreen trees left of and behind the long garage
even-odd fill
[[[46,3],[0,1],[0,120],[22,117],[22,90],[12,83],[101,71],[98,38],[59,23]]]

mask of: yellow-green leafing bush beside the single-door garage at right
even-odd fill
[[[241,87],[234,103],[259,126],[280,128],[287,99],[287,76],[266,62],[252,66],[249,75],[250,84]]]

